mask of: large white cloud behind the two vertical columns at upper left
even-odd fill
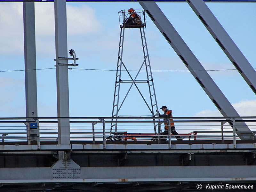
[[[35,3],[36,51],[37,54],[55,52],[54,4]],[[23,54],[23,4],[0,3],[0,52],[2,54]],[[91,7],[67,5],[68,36],[95,34],[101,23]],[[73,37],[71,37],[73,38]]]

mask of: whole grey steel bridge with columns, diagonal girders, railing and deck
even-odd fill
[[[58,117],[38,117],[34,70],[38,1],[9,2],[23,2],[26,117],[0,118],[0,191],[197,191],[199,185],[207,191],[209,184],[255,190],[256,117],[238,115],[156,5],[185,1],[136,1],[223,115],[173,117],[176,130],[185,137],[182,141],[170,132],[160,135],[159,117],[69,117],[65,0],[54,0]],[[256,93],[255,70],[205,4],[254,1],[186,2]],[[112,130],[117,123],[118,129]]]

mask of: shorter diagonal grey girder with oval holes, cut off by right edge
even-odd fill
[[[236,46],[226,30],[221,26],[220,22],[203,0],[187,0],[187,2],[219,44],[222,51],[228,56],[228,59],[256,94],[256,71],[252,68],[249,61],[244,57],[243,53]]]

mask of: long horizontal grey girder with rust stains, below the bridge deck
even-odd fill
[[[255,165],[81,167],[81,179],[54,179],[51,167],[0,168],[0,183],[244,181],[256,180],[255,169]]]

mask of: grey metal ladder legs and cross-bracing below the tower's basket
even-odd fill
[[[157,112],[158,112],[158,107],[157,107],[157,101],[156,101],[156,92],[155,92],[155,87],[154,87],[154,82],[153,82],[152,70],[151,70],[149,56],[148,56],[148,47],[147,47],[147,42],[146,42],[144,26],[140,28],[140,36],[141,36],[142,49],[143,49],[143,54],[144,54],[144,61],[143,61],[142,65],[140,66],[140,69],[139,69],[137,75],[135,76],[135,78],[132,78],[131,74],[129,73],[129,70],[126,68],[126,66],[124,65],[124,62],[123,62],[124,29],[125,29],[124,27],[123,28],[121,27],[121,31],[120,31],[117,68],[116,68],[116,83],[115,83],[114,100],[113,100],[113,108],[112,108],[112,116],[111,117],[118,116],[118,112],[119,112],[120,108],[122,107],[124,100],[126,99],[128,93],[130,92],[133,84],[139,91],[139,93],[140,93],[142,99],[144,100],[144,102],[146,103],[150,113],[152,114],[152,116],[154,116],[154,111],[157,110]],[[136,78],[139,75],[143,66],[145,67],[147,79],[137,80]],[[122,67],[124,67],[124,70],[128,73],[128,75],[130,76],[131,79],[129,79],[129,80],[121,79]],[[143,97],[138,86],[136,85],[136,82],[137,83],[148,83],[150,104],[148,104],[148,102]],[[119,103],[119,94],[120,94],[121,83],[132,83],[132,84],[130,86],[130,89],[126,93],[124,100],[120,104]],[[115,118],[113,118],[113,119],[115,119]],[[112,121],[113,121],[113,119],[112,119]],[[115,127],[115,133],[117,133],[117,122],[111,123],[110,136],[112,134],[113,127]],[[156,135],[157,132],[156,132],[156,124],[155,123],[154,123],[154,130],[155,130],[155,135]]]

